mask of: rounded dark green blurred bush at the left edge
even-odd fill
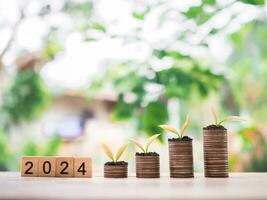
[[[13,122],[33,120],[49,103],[49,95],[39,76],[32,69],[16,74],[3,97],[2,109]]]

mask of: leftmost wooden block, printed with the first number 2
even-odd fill
[[[24,156],[20,162],[21,176],[38,176],[39,157]]]

